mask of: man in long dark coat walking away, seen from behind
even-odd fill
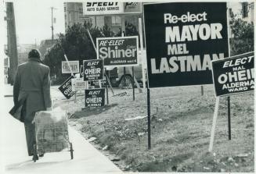
[[[25,101],[25,109],[22,112],[25,125],[28,155],[33,155],[35,141],[34,119],[35,112],[51,110],[52,100],[50,96],[49,66],[41,63],[40,53],[32,49],[28,53],[28,62],[18,66],[13,84],[14,105],[18,101]],[[43,154],[39,154],[42,156]],[[36,156],[38,158],[38,156]]]

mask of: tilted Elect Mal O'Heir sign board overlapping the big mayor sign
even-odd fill
[[[254,90],[254,52],[212,62],[216,96]]]

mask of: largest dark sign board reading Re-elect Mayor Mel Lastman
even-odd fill
[[[144,5],[149,87],[212,82],[211,60],[229,55],[225,2]]]

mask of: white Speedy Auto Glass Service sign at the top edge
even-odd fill
[[[88,15],[113,15],[142,12],[141,2],[84,2],[83,13]]]

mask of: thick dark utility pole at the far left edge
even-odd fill
[[[6,5],[6,21],[7,21],[7,34],[8,34],[8,48],[9,48],[9,63],[10,72],[9,80],[11,85],[14,83],[14,76],[18,66],[18,54],[17,54],[17,43],[16,43],[16,27],[13,2],[5,2]]]

